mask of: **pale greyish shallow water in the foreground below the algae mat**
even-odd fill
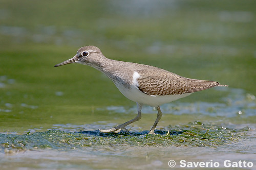
[[[247,125],[242,125],[247,126]],[[111,147],[85,147],[28,150],[18,154],[1,154],[2,168],[127,168],[156,169],[168,168],[168,161],[223,162],[240,160],[253,162],[255,168],[255,127],[254,132],[231,143],[218,147],[157,147],[126,146],[113,144]],[[120,163],[122,162],[122,163]]]

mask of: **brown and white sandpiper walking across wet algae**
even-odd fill
[[[89,65],[101,71],[114,82],[127,99],[137,104],[138,114],[135,118],[111,129],[99,129],[103,133],[118,133],[122,129],[128,131],[125,127],[138,121],[141,118],[142,106],[148,105],[155,107],[158,111],[155,123],[148,132],[148,134],[155,134],[156,126],[162,117],[160,105],[211,87],[228,86],[217,81],[185,78],[150,65],[112,60],[106,58],[100,49],[93,45],[79,48],[74,57],[54,67],[71,63]]]

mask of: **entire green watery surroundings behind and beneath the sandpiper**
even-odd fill
[[[1,169],[167,169],[171,159],[255,168],[255,11],[254,1],[0,1]],[[84,45],[229,87],[161,106],[158,135],[143,135],[156,118],[148,106],[130,133],[103,134],[136,104],[94,68],[54,68]]]

